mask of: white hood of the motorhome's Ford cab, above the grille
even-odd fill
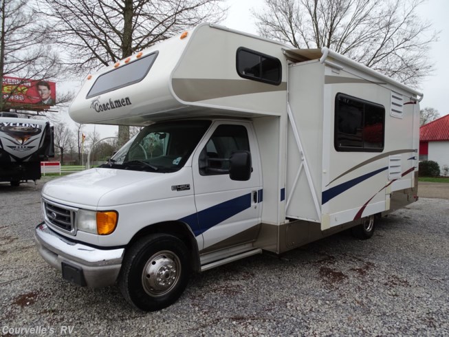
[[[193,191],[174,194],[172,186],[192,184],[190,167],[175,173],[151,173],[91,168],[47,182],[42,196],[53,202],[77,208],[108,208],[136,202],[190,195]]]

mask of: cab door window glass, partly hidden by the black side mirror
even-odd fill
[[[229,158],[235,151],[250,151],[243,125],[219,125],[199,155],[199,174],[229,174]]]

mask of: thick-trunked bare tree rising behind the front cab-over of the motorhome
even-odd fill
[[[208,19],[219,21],[223,0],[47,0],[47,32],[78,74],[109,65]],[[129,127],[119,126],[119,144]]]

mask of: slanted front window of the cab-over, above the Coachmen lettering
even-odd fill
[[[113,69],[106,74],[102,74],[97,78],[86,98],[105,94],[106,92],[140,82],[150,71],[156,57],[157,52],[154,52],[153,54],[144,56],[137,61],[133,61],[127,65]]]

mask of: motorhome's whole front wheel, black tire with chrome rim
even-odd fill
[[[175,303],[186,289],[191,269],[190,254],[181,240],[149,235],[125,254],[118,283],[131,305],[153,312]]]

